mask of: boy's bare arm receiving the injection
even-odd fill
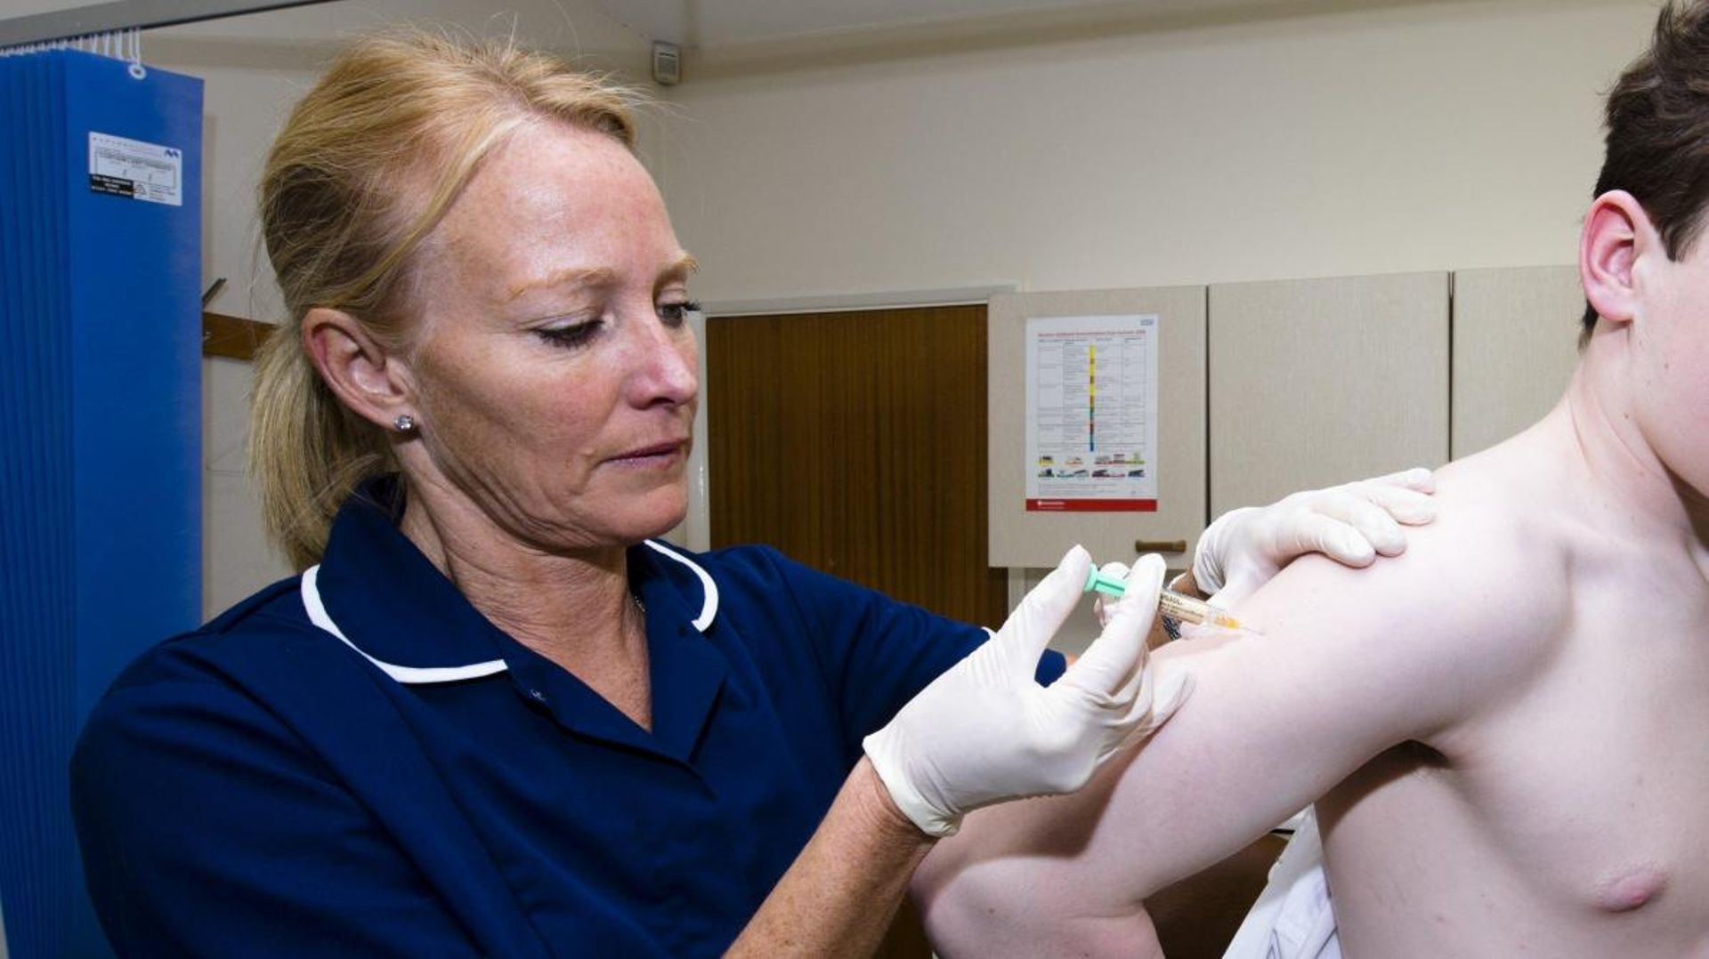
[[[1480,542],[1475,509],[1448,513],[1372,569],[1295,562],[1237,610],[1263,636],[1160,650],[1154,668],[1193,672],[1188,703],[1092,788],[971,817],[916,882],[933,933],[954,950],[966,935],[1027,935],[1039,916],[1056,935],[1077,916],[1133,915],[1377,752],[1451,733],[1523,682],[1542,631],[1514,612],[1523,590],[1502,588],[1514,557]]]

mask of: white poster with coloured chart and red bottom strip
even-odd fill
[[[1027,320],[1027,511],[1157,511],[1157,316]]]

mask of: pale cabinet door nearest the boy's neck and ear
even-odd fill
[[[1470,456],[1547,414],[1577,366],[1577,267],[1454,274],[1453,455]]]

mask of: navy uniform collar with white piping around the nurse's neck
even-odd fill
[[[299,583],[309,621],[396,682],[456,682],[508,670],[516,641],[398,530],[402,513],[396,477],[364,484],[338,509],[320,566]],[[697,562],[646,540],[629,549],[627,566],[649,617],[692,617],[702,634],[711,627],[718,585]]]

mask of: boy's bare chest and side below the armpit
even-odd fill
[[[1594,600],[1579,597],[1542,667],[1444,752],[1391,750],[1326,797],[1331,879],[1383,877],[1391,892],[1379,904],[1343,880],[1338,915],[1405,925],[1403,903],[1468,944],[1567,954],[1709,938],[1709,619]],[[1490,909],[1499,932],[1478,928]]]

